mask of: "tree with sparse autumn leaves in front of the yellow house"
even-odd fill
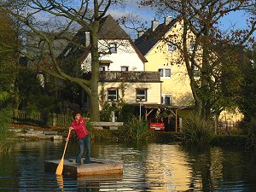
[[[201,118],[210,119],[212,113],[232,107],[234,102],[230,101],[234,101],[235,90],[231,84],[236,86],[241,81],[239,78],[230,81],[239,74],[236,48],[253,41],[255,4],[252,1],[221,0],[157,0],[143,1],[142,4],[155,7],[160,16],[174,15],[183,20],[183,28],[179,32],[182,38],[173,34],[163,40],[180,51],[180,57],[174,63],[186,66],[196,112]],[[234,30],[221,29],[221,20],[226,15],[243,10],[247,10],[247,15],[251,14],[247,29],[235,30],[234,26],[230,26]],[[198,74],[200,79],[195,78]]]

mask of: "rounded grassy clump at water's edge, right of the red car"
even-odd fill
[[[213,130],[214,126],[211,121],[206,121],[196,114],[191,114],[183,119],[180,137],[183,143],[209,143]]]

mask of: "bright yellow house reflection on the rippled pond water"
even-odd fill
[[[188,154],[177,145],[151,144],[146,159],[148,183],[161,186],[159,191],[190,189],[191,167]]]

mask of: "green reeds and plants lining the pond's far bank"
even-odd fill
[[[3,110],[0,119],[0,150],[3,151],[9,148],[10,139],[14,134],[9,131],[8,123],[11,119],[10,110]],[[256,146],[256,120],[249,123],[241,124],[241,128],[236,131],[231,131],[230,135],[215,135],[214,127],[211,121],[205,121],[198,118],[196,115],[189,115],[183,119],[183,126],[177,132],[165,131],[150,131],[147,120],[139,119],[131,116],[126,119],[123,126],[119,130],[97,130],[93,128],[90,121],[87,123],[87,128],[90,131],[90,137],[94,141],[106,142],[150,142],[150,143],[183,143],[184,145],[214,145],[214,146],[236,146],[237,148],[246,148],[254,150]],[[42,127],[44,130],[45,127]],[[47,129],[51,129],[50,127]],[[53,128],[55,129],[55,128]],[[56,131],[56,130],[55,130]],[[67,127],[58,128],[58,133],[63,137],[67,137]],[[75,140],[75,133],[72,139]]]

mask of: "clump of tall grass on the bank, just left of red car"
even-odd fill
[[[149,130],[148,121],[132,117],[119,130],[121,138],[126,141],[149,140],[154,137],[154,132]]]

